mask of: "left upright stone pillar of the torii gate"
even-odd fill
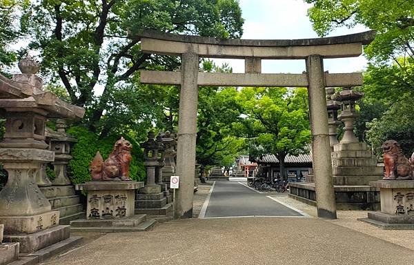
[[[174,207],[175,218],[192,218],[199,57],[194,52],[186,52],[182,55],[181,60],[177,143],[177,175],[180,177],[180,184],[175,193]]]

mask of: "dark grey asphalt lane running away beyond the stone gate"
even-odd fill
[[[216,181],[205,218],[244,216],[303,216],[237,181]]]

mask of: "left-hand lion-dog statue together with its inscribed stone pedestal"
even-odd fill
[[[77,190],[88,193],[86,219],[70,222],[72,230],[83,232],[125,232],[146,230],[145,215],[135,215],[135,190],[142,182],[129,178],[132,144],[121,137],[103,161],[99,152],[90,163],[92,180],[77,184]]]

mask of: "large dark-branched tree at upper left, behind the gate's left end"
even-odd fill
[[[119,124],[110,122],[120,120],[120,108],[139,108],[142,101],[135,106],[124,102],[139,89],[125,86],[137,70],[179,66],[175,58],[144,54],[140,39],[128,34],[150,28],[234,38],[242,35],[243,24],[235,0],[42,0],[34,5],[31,21],[29,47],[40,50],[43,74],[60,79],[72,103],[87,108],[84,121],[101,137]],[[95,88],[103,90],[101,96]],[[121,121],[132,124],[140,120],[137,116]]]

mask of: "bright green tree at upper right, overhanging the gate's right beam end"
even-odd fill
[[[333,29],[362,24],[376,30],[364,52],[370,63],[364,73],[357,134],[366,135],[377,154],[382,142],[396,139],[414,148],[408,106],[414,97],[414,6],[403,0],[305,0],[313,28],[320,36]],[[405,150],[409,153],[408,150]]]

